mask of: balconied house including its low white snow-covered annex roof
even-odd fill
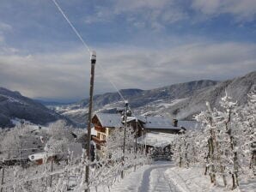
[[[178,121],[168,117],[127,117],[127,125],[137,133],[137,144],[146,146],[146,151],[170,152],[171,142],[178,134],[186,129],[198,128],[198,123],[193,121]],[[95,136],[96,153],[99,157],[104,156],[107,137],[114,129],[125,128],[125,119],[121,113],[96,113],[92,118]],[[152,142],[155,142],[152,144]]]

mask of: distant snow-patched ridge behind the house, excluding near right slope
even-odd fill
[[[131,108],[139,114],[150,113],[159,115],[161,111],[171,107],[192,95],[195,91],[216,85],[217,81],[191,81],[160,87],[151,90],[122,89],[120,93],[129,100]],[[94,96],[94,112],[115,112],[116,108],[124,106],[119,93],[104,93]],[[77,123],[85,123],[88,114],[88,99],[74,105],[52,106],[60,114],[69,117]]]

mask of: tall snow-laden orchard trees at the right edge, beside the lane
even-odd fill
[[[213,183],[216,175],[221,175],[225,186],[226,177],[231,175],[232,189],[239,185],[241,172],[247,170],[248,146],[255,141],[255,96],[251,94],[250,98],[248,106],[242,109],[226,93],[220,101],[221,111],[211,109],[207,103],[207,111],[196,116],[204,124],[204,150],[199,156],[204,156],[205,173],[209,173]],[[253,159],[253,150],[250,158]]]

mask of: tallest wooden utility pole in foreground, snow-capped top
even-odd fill
[[[92,111],[93,111],[93,95],[94,95],[94,68],[96,64],[96,52],[91,52],[91,77],[90,77],[90,93],[89,93],[89,108],[88,108],[88,128],[87,128],[87,159],[88,165],[85,170],[85,182],[88,186],[89,180],[89,162],[90,162],[90,141],[91,141],[91,123],[92,123]],[[85,192],[89,192],[89,188],[85,189]]]

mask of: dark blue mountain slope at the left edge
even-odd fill
[[[0,127],[12,126],[11,119],[15,117],[37,124],[46,124],[60,118],[58,113],[33,99],[0,87]]]

